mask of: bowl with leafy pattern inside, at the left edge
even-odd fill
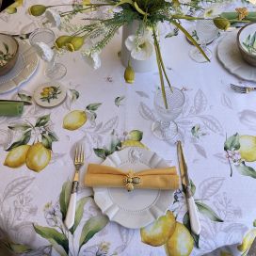
[[[8,49],[6,49],[6,47]],[[0,57],[1,56],[7,57],[7,59],[2,60],[2,62],[0,63],[0,75],[4,75],[14,67],[17,61],[19,43],[17,40],[12,38],[11,36],[0,33],[0,51],[1,51]]]

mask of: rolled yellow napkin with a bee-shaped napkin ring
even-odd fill
[[[87,186],[127,188],[129,183],[135,188],[175,190],[179,188],[179,176],[175,167],[150,168],[133,172],[103,165],[88,165],[88,172],[85,175]]]

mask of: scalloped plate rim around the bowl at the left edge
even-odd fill
[[[26,41],[19,41],[19,46],[20,46],[19,55],[24,56],[25,68],[28,67],[29,64],[30,65],[33,64],[33,66],[28,71],[25,71],[26,69],[24,68],[15,77],[0,84],[0,94],[8,93],[9,91],[12,91],[15,88],[19,88],[24,82],[26,82],[33,75],[34,72],[36,72],[39,66],[39,56],[33,50],[32,46],[30,46],[30,44],[28,44]],[[29,61],[31,59],[33,61]],[[3,89],[1,87],[8,87],[8,88]]]

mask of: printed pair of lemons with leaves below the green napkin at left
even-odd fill
[[[9,131],[20,131],[22,136],[9,145],[4,165],[19,168],[26,164],[36,172],[46,168],[51,161],[52,144],[58,140],[49,122],[50,115],[45,115],[38,118],[35,125],[28,120],[9,125]]]

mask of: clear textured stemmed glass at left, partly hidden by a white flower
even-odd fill
[[[53,47],[55,43],[55,33],[49,28],[38,28],[29,37],[30,44],[33,46],[37,42],[44,42],[48,46]],[[51,80],[59,80],[67,73],[66,67],[61,63],[56,63],[56,54],[52,61],[49,62],[45,75]]]

